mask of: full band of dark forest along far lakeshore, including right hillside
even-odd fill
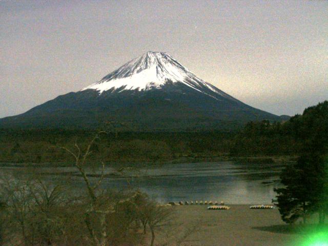
[[[327,137],[328,101],[285,122],[249,122],[241,130],[201,132],[129,132],[111,129],[93,146],[92,160],[168,161],[179,158],[230,158],[300,155],[312,138]],[[315,133],[313,129],[316,129]],[[60,146],[84,145],[94,130],[0,129],[0,162],[64,162]],[[319,141],[317,141],[319,142]]]

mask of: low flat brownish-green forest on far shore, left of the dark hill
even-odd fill
[[[61,162],[67,153],[61,146],[82,146],[95,131],[0,130],[1,162]],[[91,159],[105,161],[167,161],[180,157],[227,155],[233,132],[110,132],[93,146]]]

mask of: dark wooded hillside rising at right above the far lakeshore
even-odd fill
[[[295,115],[284,123],[249,122],[236,135],[231,154],[300,155],[310,151],[309,146],[313,148],[310,143],[328,139],[327,126],[328,101],[306,108],[302,115]],[[317,141],[313,141],[314,138]]]

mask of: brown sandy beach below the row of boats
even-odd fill
[[[290,233],[278,209],[251,210],[231,205],[230,210],[207,210],[206,205],[175,206],[177,220],[198,224],[185,245],[297,245],[302,235]]]

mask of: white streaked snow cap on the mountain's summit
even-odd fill
[[[97,90],[99,94],[108,90],[118,93],[124,90],[145,91],[154,88],[160,89],[169,81],[173,84],[185,84],[211,97],[214,96],[208,94],[204,88],[220,96],[231,98],[228,94],[198,78],[169,54],[152,51],[129,61],[81,91],[93,89]]]

